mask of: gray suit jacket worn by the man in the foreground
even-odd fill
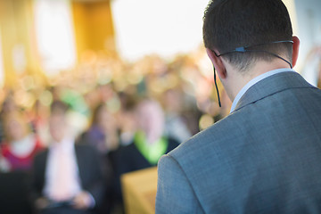
[[[321,90],[295,72],[259,81],[158,173],[156,213],[321,213]]]

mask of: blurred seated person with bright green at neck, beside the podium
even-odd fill
[[[164,112],[161,105],[143,99],[135,107],[136,134],[131,144],[121,147],[115,154],[115,197],[122,203],[120,177],[122,174],[157,165],[161,155],[170,152],[179,144],[177,140],[163,135]],[[119,204],[117,205],[119,206]],[[120,205],[121,206],[121,205]]]

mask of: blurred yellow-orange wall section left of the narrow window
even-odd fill
[[[32,5],[32,0],[0,1],[4,86],[15,86],[21,75],[41,77]]]

